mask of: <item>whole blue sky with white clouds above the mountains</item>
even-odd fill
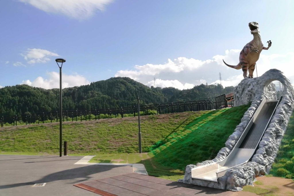
[[[239,52],[257,21],[258,75],[270,68],[294,83],[294,1],[11,0],[0,2],[0,87],[59,88],[54,59],[65,58],[63,87],[115,76],[148,86],[235,86]],[[256,76],[256,72],[254,73]]]

